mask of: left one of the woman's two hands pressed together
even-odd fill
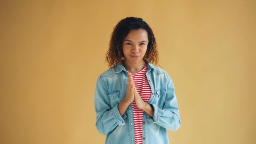
[[[134,84],[133,84],[133,77],[131,76],[131,73],[128,73],[128,82],[127,82],[127,89],[124,100],[131,104],[134,100]]]

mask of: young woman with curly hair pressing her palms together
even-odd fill
[[[97,80],[96,128],[106,144],[169,144],[166,129],[180,125],[171,77],[158,62],[152,29],[141,18],[127,17],[112,32],[109,69]]]

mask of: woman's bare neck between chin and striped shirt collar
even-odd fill
[[[142,60],[138,63],[129,63],[128,61],[124,60],[124,67],[128,72],[137,73],[139,72],[145,65],[145,61]]]

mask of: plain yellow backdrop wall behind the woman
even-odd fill
[[[255,0],[0,2],[0,144],[103,144],[94,89],[110,34],[152,27],[181,114],[171,144],[256,144]]]

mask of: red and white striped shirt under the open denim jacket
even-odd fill
[[[141,69],[141,71],[132,74],[133,83],[141,96],[141,99],[145,102],[149,101],[151,96],[151,88],[149,86],[149,82],[146,76],[147,72],[147,64]],[[139,109],[135,103],[132,102],[133,105],[133,119],[134,119],[134,131],[135,131],[135,144],[142,144],[142,118],[143,118],[143,110]]]

